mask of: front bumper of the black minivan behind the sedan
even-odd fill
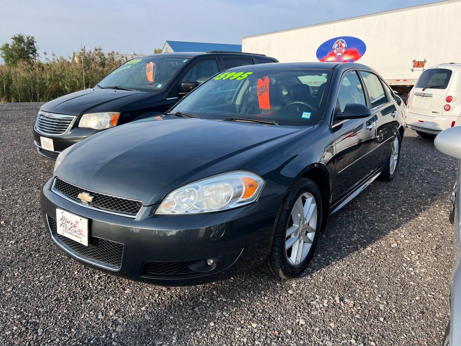
[[[66,131],[64,134],[59,136],[51,136],[47,134],[40,133],[36,127],[33,128],[33,139],[34,146],[37,150],[37,153],[41,156],[44,156],[47,159],[56,160],[59,153],[64,149],[84,140],[87,137],[90,137],[94,134],[97,134],[100,131],[85,129],[85,128],[71,128],[69,131]],[[40,137],[50,138],[53,140],[54,151],[49,151],[41,148],[40,146]]]

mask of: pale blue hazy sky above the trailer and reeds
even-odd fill
[[[165,40],[240,44],[243,36],[434,0],[0,0],[0,45],[35,36],[39,53],[80,47],[151,54]]]

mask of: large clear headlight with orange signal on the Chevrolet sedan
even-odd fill
[[[259,175],[245,171],[210,176],[170,192],[155,214],[198,214],[235,208],[258,199],[264,183]]]

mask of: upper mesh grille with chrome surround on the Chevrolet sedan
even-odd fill
[[[54,178],[53,184],[51,185],[51,191],[78,205],[126,217],[135,218],[143,207],[143,202],[140,200],[91,191],[89,189],[73,185],[58,177]],[[80,192],[89,192],[94,195],[95,199],[90,203],[84,203],[77,199],[77,195]]]

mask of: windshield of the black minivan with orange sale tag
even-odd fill
[[[161,90],[188,60],[160,54],[135,58],[112,71],[98,86],[137,91]]]

